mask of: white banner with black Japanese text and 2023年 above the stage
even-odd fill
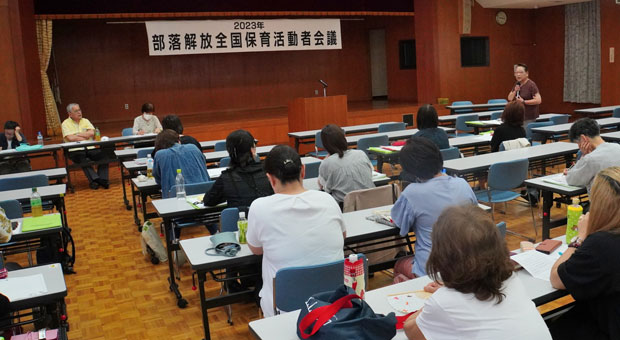
[[[149,55],[341,49],[339,19],[147,21]]]

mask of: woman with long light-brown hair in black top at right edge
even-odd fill
[[[554,339],[620,339],[620,167],[601,170],[579,235],[551,269],[575,306],[551,323]]]

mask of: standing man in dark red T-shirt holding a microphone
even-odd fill
[[[538,86],[529,78],[527,65],[523,63],[514,66],[514,74],[517,82],[508,93],[508,101],[519,101],[525,105],[524,126],[536,121],[538,118],[538,106],[542,103],[542,97]]]

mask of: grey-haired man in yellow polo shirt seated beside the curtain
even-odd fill
[[[82,110],[80,105],[71,103],[67,105],[67,114],[69,118],[62,122],[62,137],[65,142],[80,142],[93,140],[95,135],[95,127],[86,118],[82,118]],[[108,181],[108,163],[102,163],[97,166],[97,171],[88,163],[90,161],[100,161],[106,158],[106,154],[101,149],[87,147],[86,149],[69,150],[69,159],[73,163],[80,164],[86,178],[88,178],[91,189],[99,189],[99,186],[109,188]]]

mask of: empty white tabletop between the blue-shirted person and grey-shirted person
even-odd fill
[[[493,152],[472,157],[452,159],[443,163],[448,174],[462,176],[488,169],[491,164],[527,158],[530,163],[535,160],[546,160],[557,156],[570,156],[577,153],[579,147],[575,143],[557,142],[536,145],[529,148]]]

